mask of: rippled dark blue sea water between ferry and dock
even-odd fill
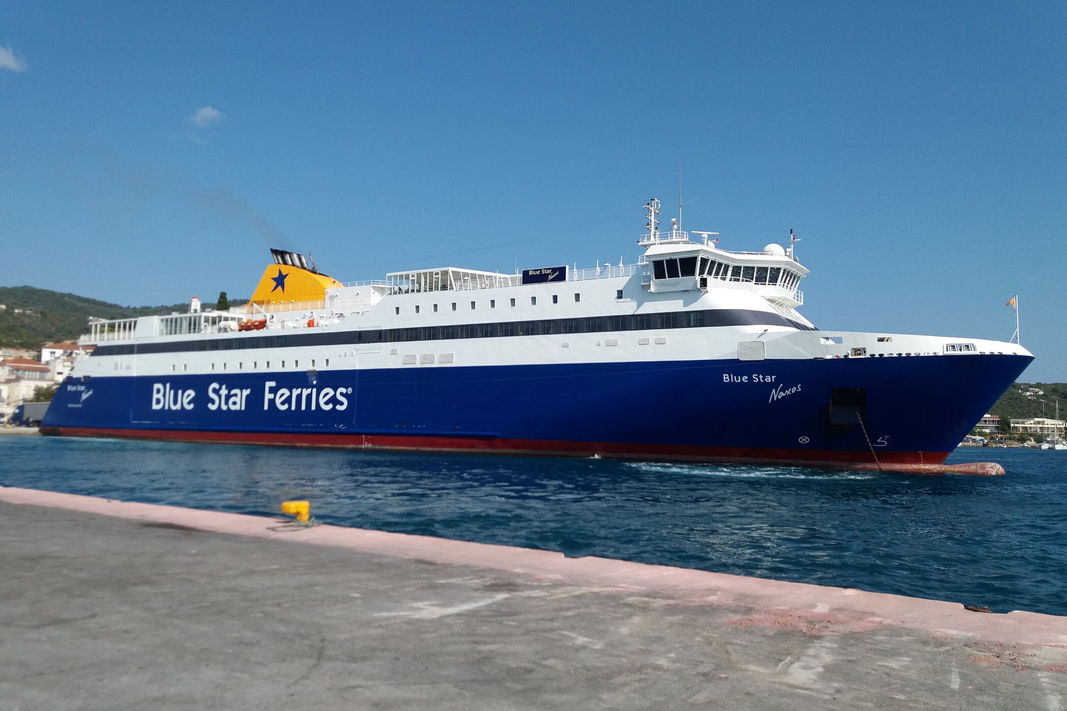
[[[0,485],[1067,614],[1067,452],[1002,477],[0,437]]]

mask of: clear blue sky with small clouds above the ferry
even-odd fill
[[[794,228],[825,329],[1006,339],[1067,380],[1062,2],[0,6],[0,284],[251,294],[628,264],[640,206]]]

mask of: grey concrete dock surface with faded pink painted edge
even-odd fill
[[[1063,617],[52,492],[0,487],[0,711],[1067,696]]]

